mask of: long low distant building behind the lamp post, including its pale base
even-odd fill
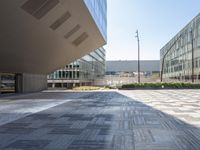
[[[160,73],[159,60],[141,60],[141,82],[158,82]],[[121,86],[138,81],[138,61],[106,61],[106,75],[103,80],[96,80],[96,85]]]

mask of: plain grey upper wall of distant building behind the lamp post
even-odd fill
[[[123,60],[123,61],[106,61],[106,74],[119,74],[119,73],[133,73],[138,70],[137,60]],[[140,71],[145,72],[159,72],[159,60],[141,60]]]

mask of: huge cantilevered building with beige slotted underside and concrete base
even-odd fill
[[[106,44],[106,15],[106,0],[1,0],[0,73],[16,92],[47,88],[47,74]]]

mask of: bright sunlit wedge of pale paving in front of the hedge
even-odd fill
[[[185,123],[200,127],[200,90],[137,90],[121,93]]]

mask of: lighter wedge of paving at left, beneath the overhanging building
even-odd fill
[[[66,103],[89,93],[34,93],[0,97],[0,125]],[[45,117],[44,117],[45,118]]]

